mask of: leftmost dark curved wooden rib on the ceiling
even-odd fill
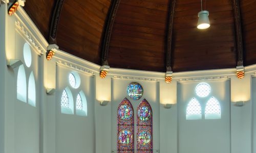
[[[62,10],[62,6],[65,0],[56,0],[54,4],[54,8],[52,11],[52,19],[50,23],[50,31],[49,31],[49,44],[56,44],[56,35],[58,30],[59,18]]]

